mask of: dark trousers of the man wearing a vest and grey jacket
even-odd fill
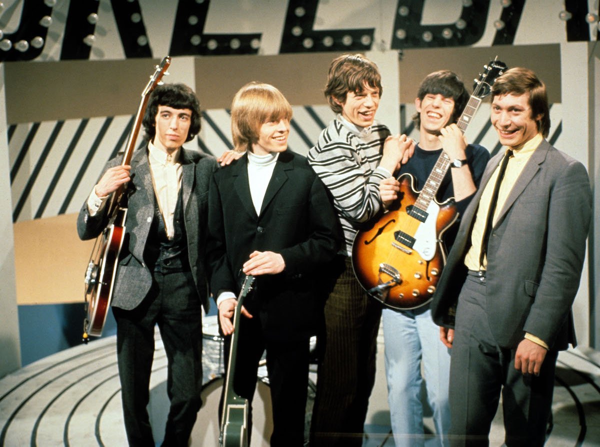
[[[169,416],[163,446],[187,446],[202,399],[202,305],[190,272],[154,273],[133,310],[113,307],[125,431],[130,446],[154,447],[146,406],[158,324],[167,354]]]

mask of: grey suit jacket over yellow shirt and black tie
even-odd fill
[[[464,256],[479,198],[502,156],[490,160],[464,213],[431,304],[438,325],[454,325],[452,312],[466,276]],[[513,186],[488,243],[485,310],[500,346],[514,348],[526,332],[553,349],[575,346],[571,306],[591,212],[586,168],[542,141]]]

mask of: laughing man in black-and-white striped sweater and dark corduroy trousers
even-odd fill
[[[375,122],[382,94],[377,66],[363,55],[343,55],[329,67],[325,96],[337,117],[308,151],[308,161],[328,187],[344,230],[325,303],[325,328],[317,339],[319,369],[311,446],[361,446],[368,399],[375,381],[381,305],[353,274],[352,241],[382,208],[379,185],[409,158],[414,143]],[[403,160],[404,159],[404,160]]]

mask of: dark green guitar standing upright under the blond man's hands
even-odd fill
[[[248,447],[248,399],[240,397],[233,389],[235,377],[235,358],[238,352],[239,319],[244,304],[244,298],[252,290],[254,276],[248,275],[239,292],[238,304],[233,313],[233,334],[231,334],[231,348],[227,362],[227,379],[225,380],[225,393],[223,401],[223,414],[221,415],[220,447]]]

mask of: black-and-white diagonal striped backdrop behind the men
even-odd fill
[[[400,105],[400,128],[418,141],[419,133],[412,125],[414,113],[414,104]],[[560,104],[554,104],[551,113],[550,141],[560,148]],[[489,116],[490,105],[482,104],[466,135],[468,141],[495,153],[500,146]],[[327,105],[293,107],[290,149],[306,155],[333,117]],[[385,117],[378,119],[385,123]],[[229,110],[206,110],[200,134],[185,147],[220,156],[233,147],[230,123]],[[14,222],[78,212],[106,161],[124,149],[132,125],[130,115],[11,125],[8,137]],[[137,144],[141,141],[142,135]]]

